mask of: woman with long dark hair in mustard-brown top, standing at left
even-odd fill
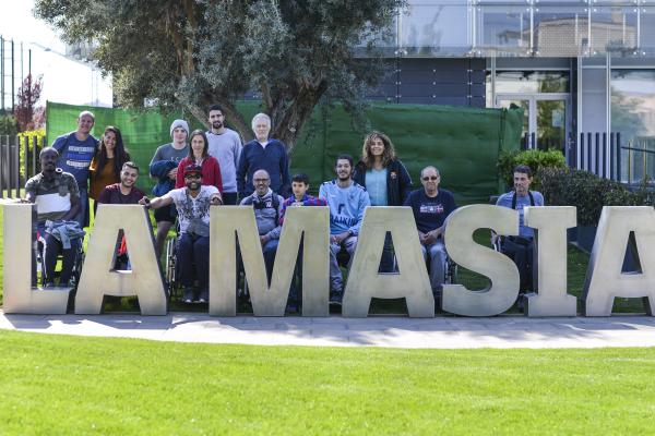
[[[100,145],[91,161],[91,190],[88,196],[94,199],[93,215],[98,208],[97,199],[105,186],[120,182],[120,171],[124,162],[130,161],[120,130],[112,125],[105,129]]]

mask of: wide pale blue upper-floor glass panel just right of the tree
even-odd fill
[[[408,53],[467,52],[471,13],[466,4],[409,4],[401,13],[401,46]]]

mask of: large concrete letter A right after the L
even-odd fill
[[[122,229],[132,270],[114,270]],[[166,293],[147,213],[139,205],[99,205],[75,296],[76,314],[99,314],[103,296],[139,296],[143,315],[166,315]]]

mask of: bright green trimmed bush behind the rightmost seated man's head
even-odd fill
[[[560,150],[549,149],[529,149],[523,152],[501,152],[498,157],[498,171],[500,179],[508,185],[514,185],[514,167],[517,165],[527,165],[534,174],[531,189],[540,191],[540,180],[538,171],[541,168],[567,168],[567,159]]]

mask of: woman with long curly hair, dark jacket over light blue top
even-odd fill
[[[366,187],[371,206],[402,206],[412,191],[407,169],[396,158],[389,136],[381,132],[372,132],[364,140],[361,160],[355,166],[353,180]],[[391,238],[384,241],[381,270],[393,270]]]

